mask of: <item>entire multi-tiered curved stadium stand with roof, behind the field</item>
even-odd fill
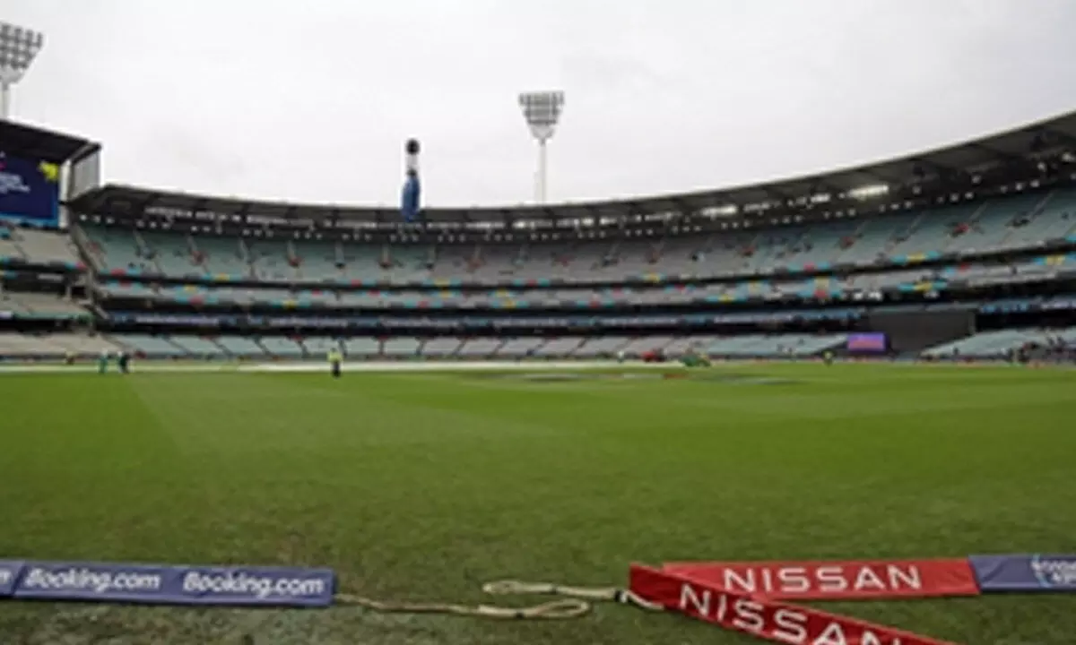
[[[59,169],[55,218],[0,225],[9,359],[1071,358],[1076,345],[1076,113],[788,181],[427,209],[421,224],[100,186],[93,142],[11,123],[0,141],[27,168]]]

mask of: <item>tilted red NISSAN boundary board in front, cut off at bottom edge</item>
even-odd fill
[[[647,567],[632,567],[631,590],[667,611],[784,645],[952,645]]]

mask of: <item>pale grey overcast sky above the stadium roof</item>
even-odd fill
[[[43,31],[14,115],[108,181],[397,205],[534,195],[521,90],[562,89],[550,200],[749,183],[1076,109],[1073,0],[2,0]]]

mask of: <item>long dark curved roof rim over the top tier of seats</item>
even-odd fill
[[[1002,133],[918,155],[852,168],[697,192],[640,197],[615,201],[520,205],[504,207],[425,209],[428,223],[513,221],[527,219],[581,219],[647,215],[659,213],[706,213],[707,211],[745,211],[763,203],[791,204],[827,194],[847,197],[859,190],[887,186],[907,186],[930,180],[974,176],[1010,162],[1035,162],[1037,158],[1076,152],[1076,112],[1034,123]],[[1070,160],[1073,160],[1070,157]],[[159,191],[121,185],[107,185],[80,196],[71,204],[76,211],[100,215],[139,215],[146,210],[214,212],[258,216],[265,223],[281,220],[322,220],[398,223],[399,213],[390,207],[296,204],[287,202],[222,198],[185,192]],[[735,206],[735,211],[732,209]]]

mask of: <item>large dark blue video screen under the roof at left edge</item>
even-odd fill
[[[0,150],[0,217],[37,225],[59,223],[59,167]]]

